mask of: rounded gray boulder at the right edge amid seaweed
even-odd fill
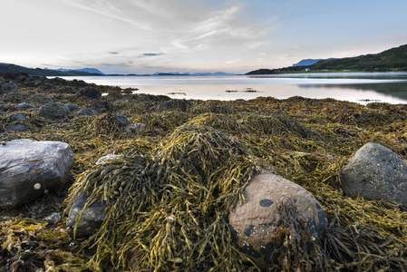
[[[407,207],[407,164],[378,143],[363,145],[341,170],[344,194],[391,200]]]

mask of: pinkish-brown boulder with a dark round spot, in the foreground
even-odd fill
[[[251,257],[262,271],[276,264],[278,248],[282,245],[271,235],[282,224],[279,206],[290,202],[296,209],[296,218],[305,220],[306,232],[319,240],[327,227],[325,211],[319,202],[296,183],[263,170],[249,181],[244,191],[246,203],[229,213],[229,224],[237,246]]]

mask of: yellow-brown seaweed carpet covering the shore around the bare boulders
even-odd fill
[[[311,251],[310,241],[290,232],[302,228],[278,229],[273,235],[284,246],[271,271],[407,269],[407,210],[346,196],[340,180],[346,161],[368,142],[407,160],[407,104],[300,96],[184,100],[81,80],[0,77],[18,86],[0,92],[0,141],[63,141],[75,160],[63,188],[0,209],[0,270],[258,271],[232,238],[228,210],[244,201],[242,190],[260,169],[308,190],[329,223]],[[78,96],[85,87],[107,95]],[[77,109],[44,118],[39,112],[48,102]],[[16,107],[22,103],[30,106]],[[75,115],[83,108],[97,115]],[[122,157],[95,166],[109,154]],[[108,203],[106,218],[91,237],[74,239],[67,213],[91,188],[92,200]]]

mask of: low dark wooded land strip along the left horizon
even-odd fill
[[[83,70],[93,69],[93,68],[85,68]],[[67,70],[67,71],[58,71],[53,69],[41,69],[41,68],[27,68],[24,66],[12,64],[12,63],[0,63],[0,73],[27,73],[29,75],[36,75],[36,76],[67,76],[67,75],[101,75],[103,74],[97,69],[99,73],[90,73],[86,71],[81,71],[82,69],[78,70]],[[91,70],[92,72],[93,70]]]

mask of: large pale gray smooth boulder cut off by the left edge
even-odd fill
[[[0,208],[15,207],[58,189],[74,164],[60,141],[14,140],[0,145]]]

